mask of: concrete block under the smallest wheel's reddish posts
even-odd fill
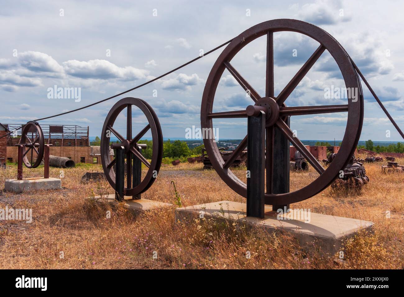
[[[62,181],[50,177],[32,177],[28,179],[6,179],[4,190],[12,192],[25,192],[32,190],[59,190],[62,188]]]

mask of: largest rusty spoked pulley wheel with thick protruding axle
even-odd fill
[[[284,87],[278,96],[274,95],[274,49],[273,49],[273,34],[274,32],[292,31],[304,34],[313,38],[320,43],[317,50],[311,55],[301,69],[293,76],[290,82]],[[251,41],[265,36],[267,38],[267,65],[266,65],[266,85],[265,96],[262,97],[257,91],[241,76],[240,73],[231,65],[231,59]],[[341,70],[345,86],[347,88],[356,88],[358,90],[359,98],[348,99],[345,105],[323,105],[323,106],[297,106],[286,107],[284,105],[285,100],[290,93],[296,88],[299,82],[307,74],[310,68],[327,50],[330,55],[335,59],[339,69]],[[250,93],[252,99],[251,103],[255,105],[265,106],[267,112],[266,120],[266,137],[265,147],[265,169],[266,169],[266,193],[265,204],[280,205],[298,202],[310,198],[317,193],[324,190],[332,181],[337,177],[339,171],[345,168],[345,164],[351,158],[358,144],[360,132],[362,130],[363,122],[363,95],[362,88],[359,82],[358,74],[354,70],[349,56],[342,48],[342,46],[323,29],[316,27],[315,25],[293,20],[293,19],[276,19],[266,21],[255,25],[242,34],[234,38],[232,42],[227,45],[221,55],[218,57],[215,65],[206,80],[204,93],[202,97],[201,106],[201,127],[213,128],[213,118],[247,118],[246,110],[238,110],[231,112],[215,112],[213,113],[213,101],[215,93],[221,76],[224,70],[227,69],[230,74],[238,81],[238,83],[244,88],[244,90]],[[261,74],[257,74],[260,75]],[[347,126],[345,128],[345,135],[342,140],[341,149],[333,162],[324,169],[320,162],[314,158],[314,156],[307,150],[303,143],[294,137],[293,132],[284,122],[285,116],[295,115],[307,115],[307,114],[324,114],[332,112],[348,112]],[[274,156],[272,154],[274,150],[274,127],[280,128],[280,130],[286,135],[289,141],[297,147],[299,152],[306,158],[306,160],[314,167],[319,173],[316,178],[309,185],[295,191],[285,194],[273,194],[272,192],[272,172],[274,164]],[[231,187],[235,192],[241,196],[247,196],[246,184],[243,183],[234,173],[229,169],[230,164],[235,158],[245,149],[247,145],[247,136],[241,141],[240,145],[235,150],[232,158],[226,162],[223,160],[219,153],[219,149],[214,139],[204,139],[206,152],[212,162],[213,168],[217,171],[221,179]]]

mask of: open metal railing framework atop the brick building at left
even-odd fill
[[[7,136],[7,145],[18,144],[21,138],[21,124],[4,124],[10,131],[14,131]],[[44,133],[45,144],[53,146],[89,146],[89,128],[77,125],[41,125]]]

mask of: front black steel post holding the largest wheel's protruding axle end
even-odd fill
[[[265,113],[248,116],[247,126],[247,217],[264,217],[265,204]]]

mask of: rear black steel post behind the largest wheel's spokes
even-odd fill
[[[288,116],[286,124],[290,127],[290,116]],[[274,174],[272,175],[272,191],[274,194],[283,194],[289,192],[289,140],[282,133],[280,128],[274,127]],[[289,204],[272,205],[272,210],[278,209],[286,211]]]

